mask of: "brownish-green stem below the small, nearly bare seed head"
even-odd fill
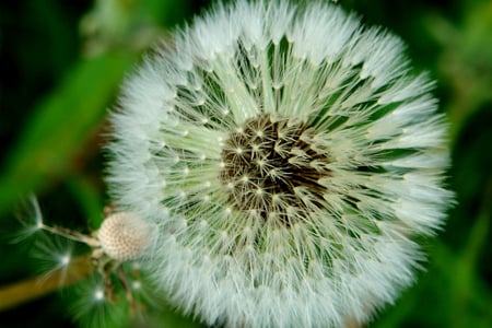
[[[91,256],[85,255],[75,258],[68,267],[68,272],[60,269],[47,278],[42,274],[2,286],[0,288],[0,312],[42,297],[55,290],[72,285],[90,276],[94,269],[95,267],[91,266]]]

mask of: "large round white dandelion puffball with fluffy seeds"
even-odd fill
[[[326,2],[218,4],[126,81],[117,207],[144,266],[225,327],[363,323],[413,279],[453,195],[443,117],[398,37]]]

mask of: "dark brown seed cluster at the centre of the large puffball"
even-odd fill
[[[323,208],[328,152],[314,129],[261,115],[232,131],[222,150],[220,179],[232,208],[285,226]]]

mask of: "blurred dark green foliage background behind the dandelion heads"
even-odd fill
[[[458,201],[446,229],[423,241],[426,270],[368,326],[492,327],[492,1],[338,2],[400,35],[414,66],[437,81],[435,94],[450,127],[448,184]],[[15,212],[23,196],[36,194],[51,222],[97,227],[108,202],[107,108],[120,81],[152,44],[209,4],[0,2],[0,234],[7,236],[0,239],[0,290],[39,273],[32,245],[8,237],[19,229]],[[0,327],[77,327],[67,298],[68,293],[51,293],[0,312]],[[199,327],[171,308],[152,323]]]

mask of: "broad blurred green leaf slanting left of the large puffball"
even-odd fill
[[[38,105],[0,174],[0,214],[19,197],[73,171],[132,59],[131,54],[106,54],[81,60]]]

